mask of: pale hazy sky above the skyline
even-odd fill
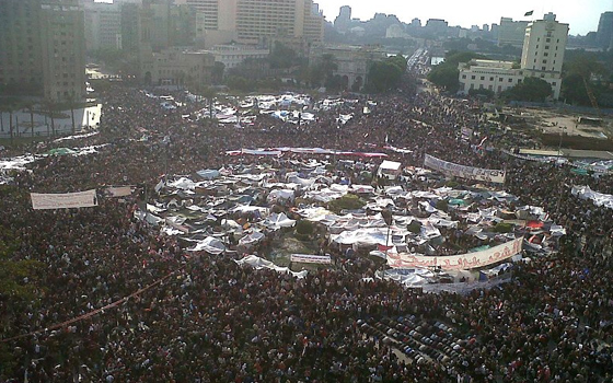
[[[500,18],[530,20],[523,14],[534,11],[534,20],[553,12],[560,23],[569,24],[571,35],[586,35],[597,31],[600,14],[613,11],[613,0],[314,0],[327,21],[334,22],[342,5],[351,7],[351,16],[362,21],[375,12],[395,14],[402,22],[414,18],[421,20],[444,19],[449,25],[500,24]]]

